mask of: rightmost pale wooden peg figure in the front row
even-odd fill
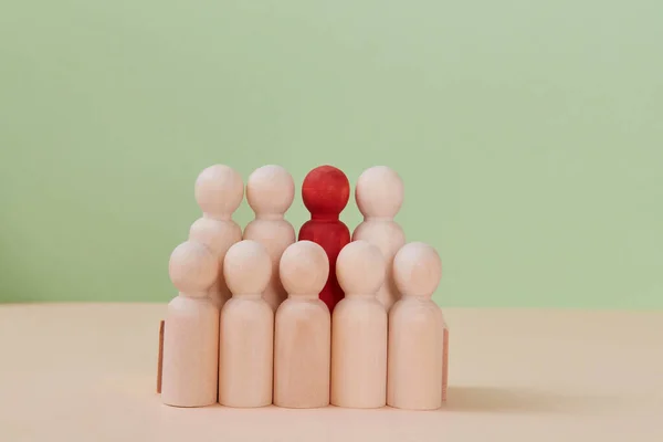
[[[387,404],[408,410],[442,407],[444,319],[431,296],[442,262],[429,244],[411,242],[393,259],[402,297],[389,311]]]

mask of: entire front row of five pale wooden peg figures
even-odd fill
[[[179,295],[166,316],[162,402],[440,408],[445,325],[431,299],[442,275],[440,256],[420,242],[400,248],[391,273],[402,296],[389,311],[377,298],[387,265],[368,241],[344,246],[335,269],[345,297],[330,315],[319,298],[329,261],[315,242],[294,242],[277,266],[252,240],[230,246],[221,267],[208,245],[192,240],[178,245],[169,263]],[[274,314],[263,293],[275,267],[287,298]],[[232,293],[221,311],[209,296],[219,281]]]

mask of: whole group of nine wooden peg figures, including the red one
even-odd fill
[[[339,221],[349,182],[332,166],[304,180],[312,219],[298,238],[284,219],[294,200],[284,168],[256,169],[245,194],[255,220],[242,232],[232,221],[239,173],[215,165],[196,182],[203,215],[169,262],[179,295],[164,322],[162,402],[439,409],[449,332],[431,296],[442,263],[431,245],[406,243],[393,221],[399,176],[379,166],[359,177],[365,220],[351,238]]]

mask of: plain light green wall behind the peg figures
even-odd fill
[[[662,23],[660,0],[2,1],[0,301],[171,298],[223,162],[396,168],[441,305],[662,307]]]

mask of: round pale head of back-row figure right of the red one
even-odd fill
[[[387,166],[366,169],[355,187],[355,200],[364,217],[393,218],[403,204],[403,181]]]

